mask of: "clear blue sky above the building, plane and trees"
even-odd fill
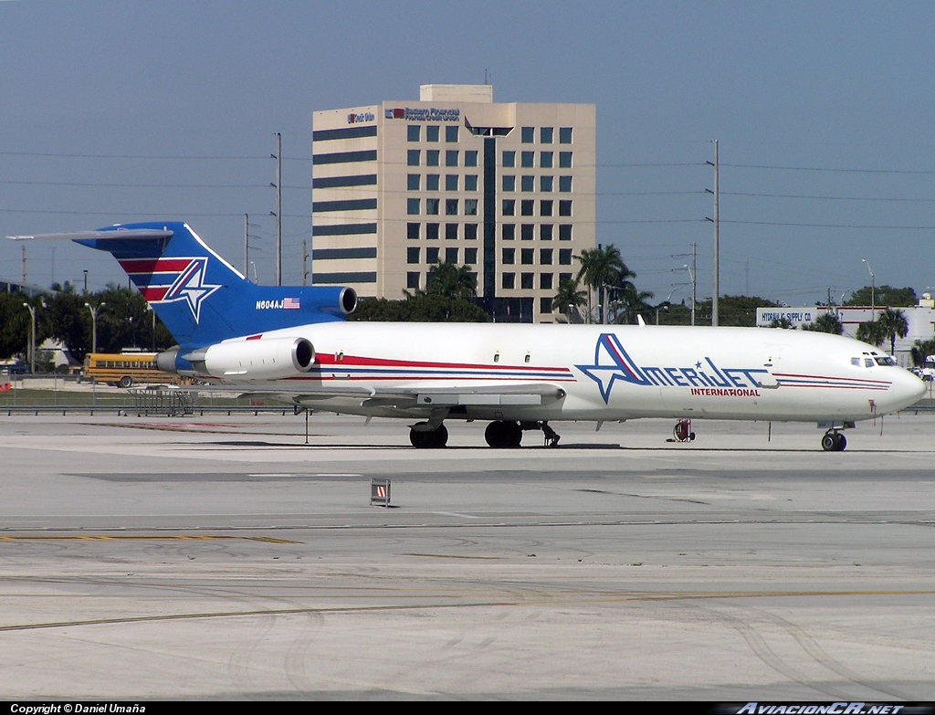
[[[597,239],[657,300],[790,305],[935,286],[935,5],[852,2],[0,2],[0,236],[184,220],[234,265],[243,215],[273,280],[310,238],[311,112],[481,83],[495,101],[597,105]],[[109,256],[27,249],[27,278],[122,281]],[[53,252],[54,251],[54,252]],[[20,246],[0,241],[0,277]]]

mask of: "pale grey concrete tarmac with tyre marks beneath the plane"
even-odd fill
[[[935,700],[935,416],[673,424],[0,416],[0,698]]]

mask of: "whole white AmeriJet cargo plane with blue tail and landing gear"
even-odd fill
[[[11,236],[12,237],[12,236]],[[345,322],[351,288],[263,287],[180,222],[55,236],[108,250],[178,340],[166,372],[294,405],[414,421],[410,441],[443,447],[446,421],[490,424],[491,447],[551,422],[688,420],[827,423],[841,430],[912,405],[922,381],[851,338],[763,328]],[[681,425],[682,432],[679,432]]]

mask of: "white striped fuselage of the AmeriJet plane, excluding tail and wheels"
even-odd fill
[[[311,370],[252,379],[245,367],[212,381],[326,411],[519,421],[852,422],[924,391],[864,343],[792,330],[325,322],[252,340],[282,337],[311,342]],[[221,345],[237,342],[247,340]]]

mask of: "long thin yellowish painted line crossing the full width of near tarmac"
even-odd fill
[[[776,598],[776,597],[808,597],[808,596],[842,596],[842,595],[935,595],[935,591],[800,591],[800,592],[769,592],[769,593],[671,593],[659,595],[622,595],[616,598],[554,598],[554,599],[522,599],[522,600],[491,600],[475,603],[454,604],[425,604],[421,606],[347,606],[347,607],[321,607],[321,608],[259,608],[256,610],[215,611],[202,613],[177,613],[162,616],[129,616],[124,618],[95,618],[82,621],[56,621],[45,623],[22,623],[19,625],[0,625],[0,633],[11,631],[35,631],[51,628],[67,628],[80,625],[120,625],[122,623],[147,623],[160,621],[192,621],[194,619],[212,618],[242,618],[245,616],[289,616],[309,613],[373,613],[380,611],[400,610],[440,610],[443,608],[496,608],[510,606],[550,606],[601,603],[639,603],[654,601],[687,601],[699,599],[724,598]]]

